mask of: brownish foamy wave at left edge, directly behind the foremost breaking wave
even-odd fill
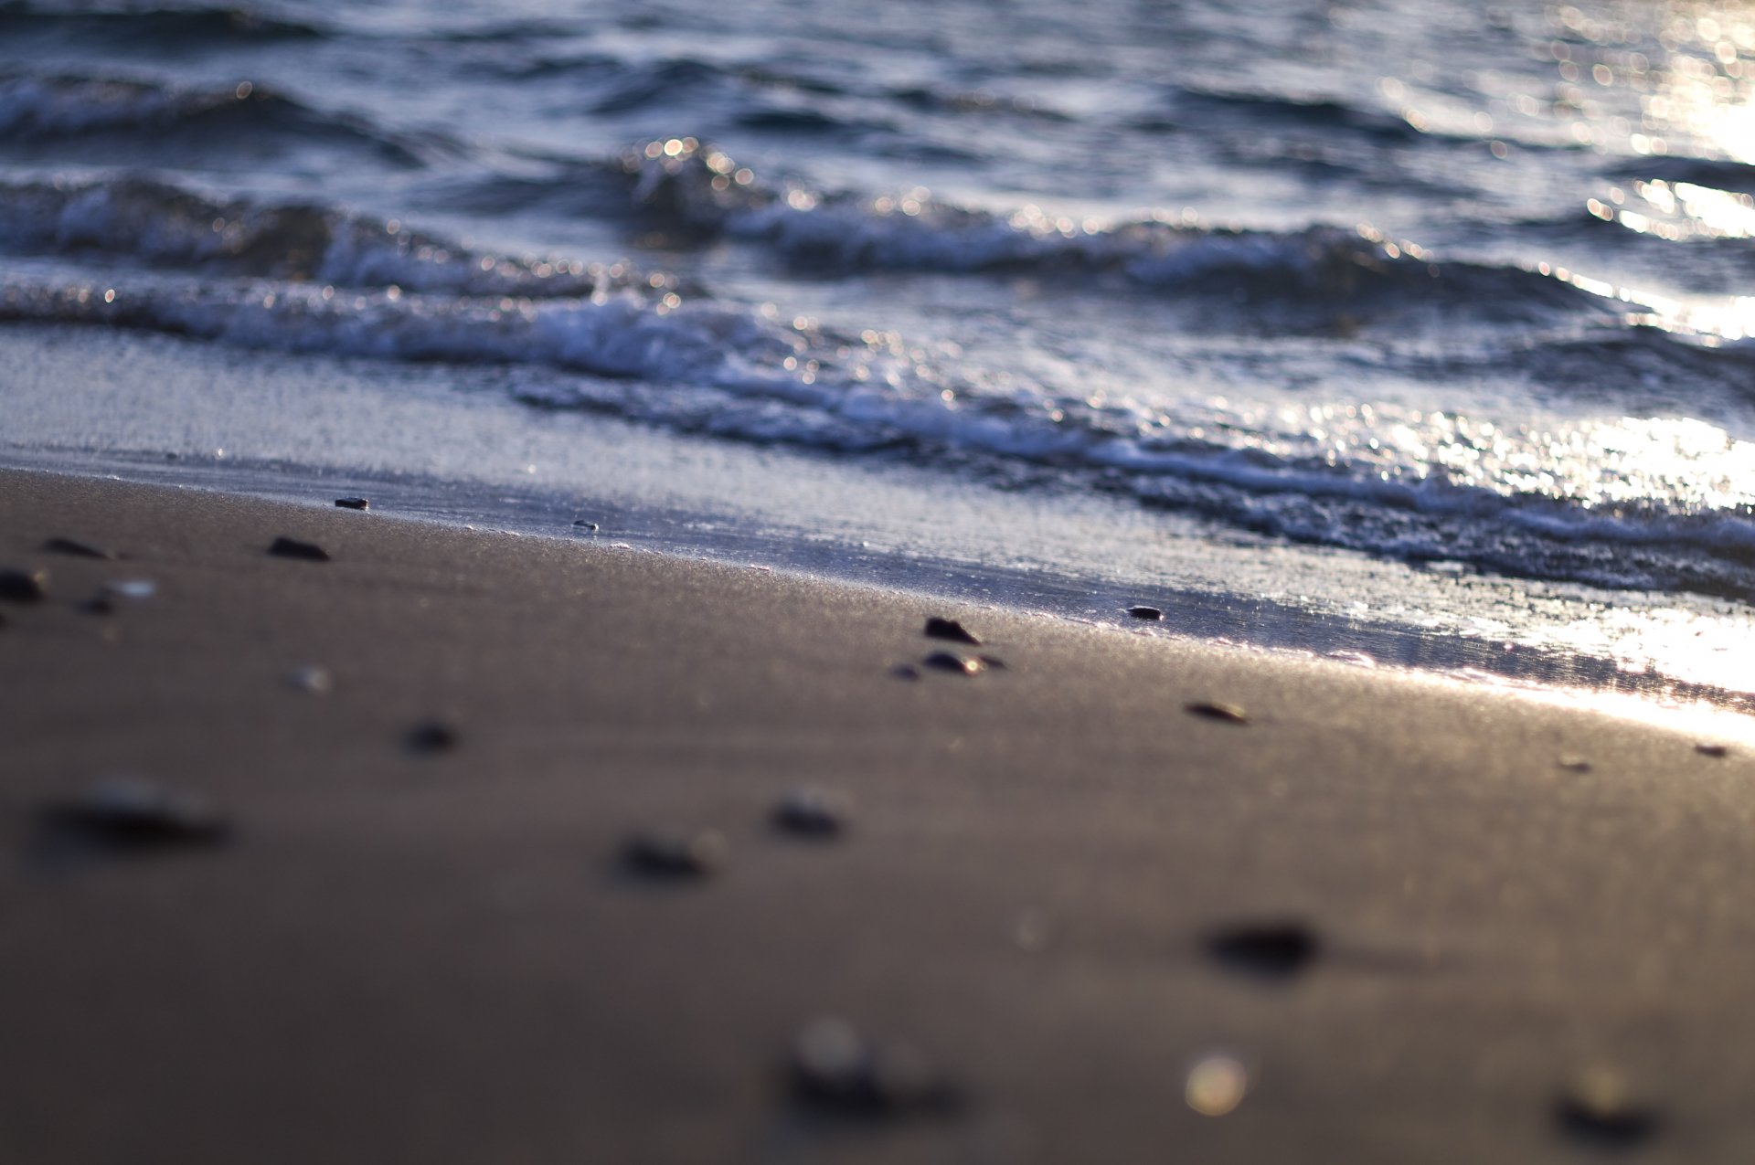
[[[686,291],[632,263],[493,254],[312,204],[209,198],[151,179],[0,186],[0,247],[233,277],[465,297],[591,297],[623,288]]]

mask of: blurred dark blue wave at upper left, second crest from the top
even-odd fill
[[[119,77],[0,77],[0,137],[40,146],[91,135],[126,135],[147,153],[177,140],[216,154],[316,140],[363,147],[397,167],[421,167],[444,147],[430,135],[404,139],[251,82],[212,89]]]

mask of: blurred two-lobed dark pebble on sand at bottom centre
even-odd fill
[[[793,1093],[804,1107],[853,1118],[949,1112],[956,1090],[906,1044],[872,1044],[844,1019],[816,1019],[792,1049]]]

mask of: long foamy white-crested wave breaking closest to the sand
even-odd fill
[[[1148,505],[1413,561],[1755,598],[1755,497],[1736,484],[1751,456],[1701,423],[1553,433],[1390,407],[1165,412],[1053,395],[892,333],[844,335],[639,284],[535,300],[14,277],[0,289],[0,319],[584,372],[534,377],[519,398],[742,440],[974,458],[978,472],[1041,467]],[[1555,442],[1572,447],[1557,456]]]

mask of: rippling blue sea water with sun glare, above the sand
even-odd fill
[[[1741,705],[1751,95],[1660,0],[5,0],[0,460]]]

